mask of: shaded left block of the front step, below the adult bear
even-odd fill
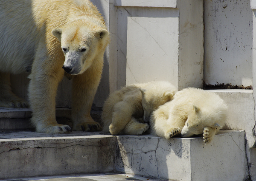
[[[1,133],[0,179],[111,172],[115,143],[99,133]]]

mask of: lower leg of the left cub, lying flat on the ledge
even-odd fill
[[[147,123],[138,122],[134,117],[131,118],[131,121],[126,124],[124,134],[126,135],[141,135],[149,126]]]

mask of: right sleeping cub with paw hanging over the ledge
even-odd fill
[[[224,126],[226,117],[227,105],[217,94],[186,88],[151,114],[151,133],[166,139],[180,133],[181,137],[203,134],[208,143]]]

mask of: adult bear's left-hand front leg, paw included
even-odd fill
[[[33,112],[31,122],[37,132],[69,133],[70,126],[58,124],[55,119],[55,96],[58,83],[64,76],[60,57],[49,57],[44,39],[38,47],[29,75],[29,102]],[[55,54],[53,54],[55,55]]]

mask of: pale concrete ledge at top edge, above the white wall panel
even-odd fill
[[[115,0],[115,6],[176,8],[177,0]]]

